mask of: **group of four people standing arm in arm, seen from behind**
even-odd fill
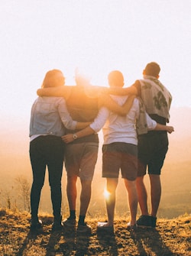
[[[128,229],[134,229],[137,225],[156,226],[161,195],[160,170],[168,149],[167,132],[173,131],[172,126],[166,125],[172,97],[158,80],[159,73],[157,63],[148,63],[144,69],[144,79],[137,80],[128,88],[122,88],[124,78],[118,70],[108,74],[109,88],[89,86],[80,74],[76,74],[76,86],[64,86],[65,79],[60,70],[50,70],[46,74],[42,89],[37,91],[39,97],[31,110],[31,229],[41,227],[37,213],[47,166],[53,229],[60,229],[62,225],[76,225],[76,180],[79,177],[82,189],[77,230],[91,230],[85,218],[98,157],[97,132],[101,129],[104,136],[102,177],[106,178],[109,196],[106,199],[108,222],[99,222],[98,228],[113,230],[115,190],[120,170],[128,191],[131,212]],[[62,222],[63,160],[70,216]],[[144,186],[147,167],[151,180],[151,214],[148,212]],[[138,202],[141,217],[136,220]]]

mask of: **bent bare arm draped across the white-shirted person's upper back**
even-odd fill
[[[100,95],[99,96],[99,108],[103,105],[107,109],[115,112],[118,115],[127,115],[133,104],[135,96],[129,96],[124,105],[118,105],[110,96]]]

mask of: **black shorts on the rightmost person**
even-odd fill
[[[152,132],[138,137],[138,177],[160,175],[168,151],[166,132]]]

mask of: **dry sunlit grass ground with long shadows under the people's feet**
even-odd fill
[[[31,234],[29,219],[26,212],[0,210],[0,256],[191,255],[191,215],[159,219],[156,229],[136,232],[128,232],[127,220],[118,218],[113,235],[97,233],[97,219],[87,219],[91,235],[78,235],[71,229],[51,232],[50,215],[41,216],[43,231]]]

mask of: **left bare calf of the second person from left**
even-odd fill
[[[77,176],[67,177],[66,193],[70,210],[76,210],[76,180]]]

